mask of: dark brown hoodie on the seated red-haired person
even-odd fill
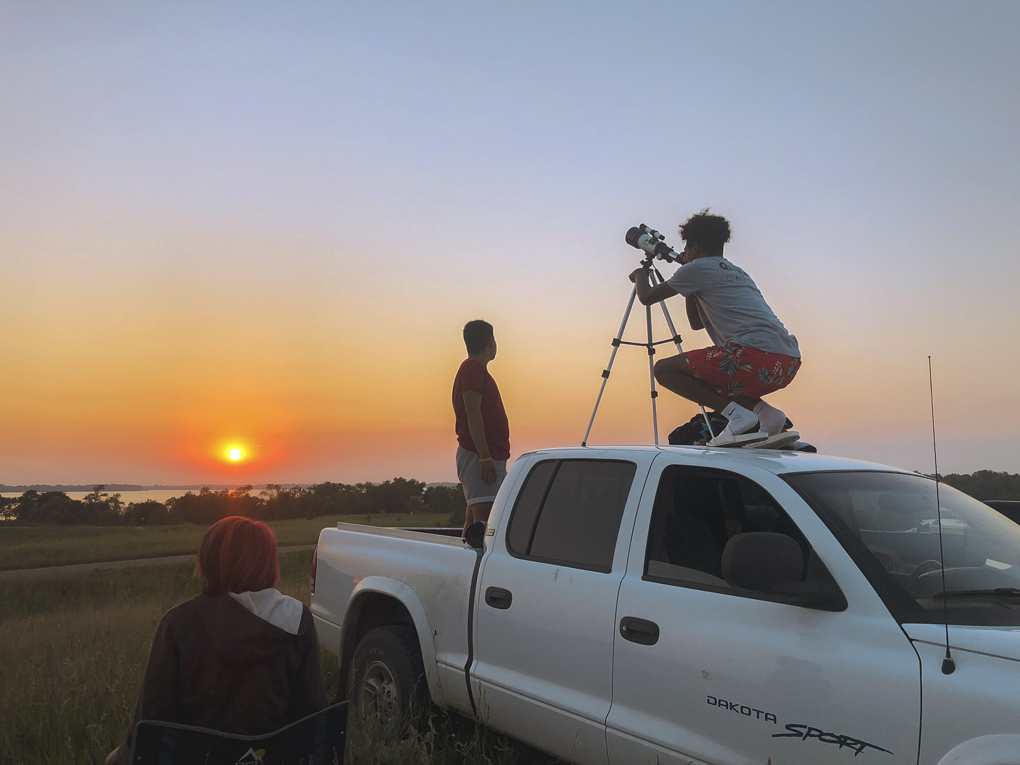
[[[196,596],[163,615],[135,708],[160,720],[258,735],[324,709],[311,612],[291,634],[228,596]],[[135,724],[128,731],[131,749]]]

